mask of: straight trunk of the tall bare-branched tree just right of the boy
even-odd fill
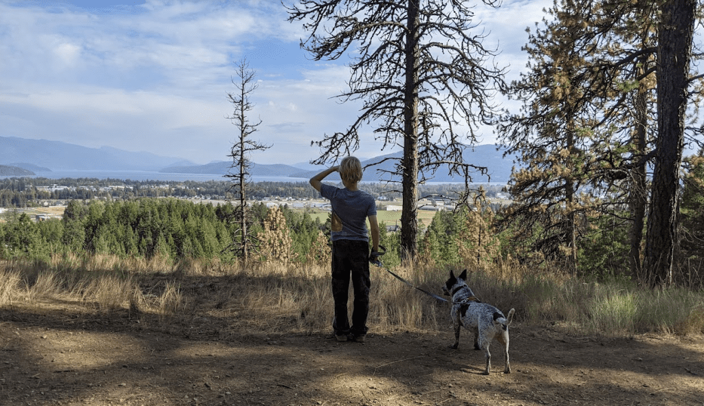
[[[406,23],[406,94],[403,108],[403,211],[401,212],[401,259],[413,260],[417,253],[418,189],[418,57],[417,0],[408,0]]]

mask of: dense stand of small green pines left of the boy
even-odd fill
[[[151,258],[234,259],[239,242],[232,205],[203,205],[175,198],[84,204],[70,201],[63,218],[35,222],[10,212],[0,222],[0,259],[90,253]],[[318,217],[255,204],[251,230],[256,260],[327,262],[329,248]]]

